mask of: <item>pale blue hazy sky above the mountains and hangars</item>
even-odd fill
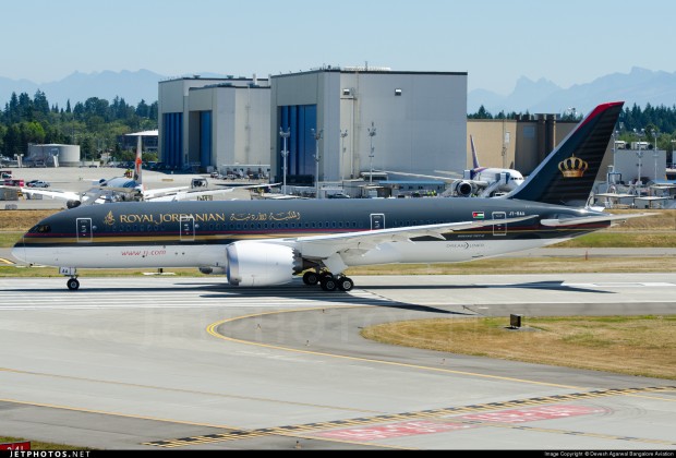
[[[632,67],[676,71],[673,0],[4,0],[0,76],[147,69],[261,77],[322,65],[520,76],[567,88]]]

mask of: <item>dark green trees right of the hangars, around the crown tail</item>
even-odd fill
[[[475,113],[468,114],[468,119],[521,119],[523,116],[530,116],[530,113],[528,111],[526,113],[500,111],[493,116],[482,105]],[[582,116],[565,112],[559,114],[558,119],[562,121],[580,121]],[[616,140],[623,140],[627,143],[635,141],[654,143],[653,140],[656,138],[657,148],[671,153],[674,150],[672,141],[676,141],[676,105],[653,107],[645,104],[644,108],[640,108],[633,104],[631,108],[625,107],[619,113],[616,132]]]

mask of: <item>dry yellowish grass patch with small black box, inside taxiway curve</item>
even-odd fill
[[[362,329],[384,343],[676,379],[676,315],[438,318]]]

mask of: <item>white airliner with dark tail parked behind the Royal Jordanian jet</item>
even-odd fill
[[[442,194],[444,197],[493,197],[507,194],[523,183],[523,176],[518,170],[496,167],[481,167],[479,165],[479,157],[476,154],[476,148],[474,147],[474,137],[472,135],[470,135],[470,145],[472,148],[473,168],[464,170],[462,178],[449,178],[398,171],[387,171],[387,173],[446,181],[450,184],[444,194]],[[454,172],[449,173],[457,174]]]

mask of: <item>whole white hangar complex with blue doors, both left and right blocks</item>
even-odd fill
[[[160,160],[270,165],[287,182],[373,170],[462,172],[467,73],[322,68],[269,80],[183,77],[159,83]],[[280,135],[280,131],[288,136]]]

